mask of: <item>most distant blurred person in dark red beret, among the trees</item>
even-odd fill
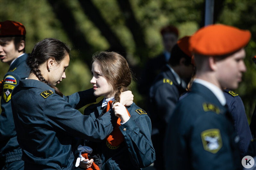
[[[145,64],[139,81],[138,90],[142,95],[148,95],[149,88],[157,75],[162,71],[171,56],[171,50],[177,43],[179,31],[174,26],[166,26],[160,30],[163,39],[164,51],[155,58],[149,59]]]

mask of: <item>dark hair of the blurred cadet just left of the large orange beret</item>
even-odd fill
[[[169,64],[171,66],[177,66],[180,63],[180,59],[185,58],[185,65],[188,66],[191,64],[191,57],[185,54],[180,47],[175,44],[171,51],[171,57],[169,59]]]

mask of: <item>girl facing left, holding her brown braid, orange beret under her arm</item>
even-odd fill
[[[96,164],[102,164],[103,170],[136,170],[149,166],[155,160],[149,116],[134,103],[128,107],[120,103],[120,93],[128,90],[132,81],[127,61],[116,52],[101,51],[93,55],[92,62],[90,82],[94,95],[105,98],[87,107],[84,115],[92,119],[101,118],[113,107],[119,119],[105,140],[89,140],[84,144],[93,149],[92,155],[99,155],[101,162]],[[80,167],[88,168],[88,164],[80,164]]]

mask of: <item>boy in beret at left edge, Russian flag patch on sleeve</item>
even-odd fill
[[[28,54],[25,53],[25,35],[26,29],[21,23],[10,20],[0,22],[0,59],[10,65],[0,84],[0,169],[24,169],[10,99],[20,78],[28,77],[30,73],[26,65]]]

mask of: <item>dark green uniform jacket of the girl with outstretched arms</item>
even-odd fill
[[[76,110],[95,99],[93,89],[60,97],[44,82],[21,79],[11,102],[24,169],[72,169],[74,137],[99,141],[109,135],[116,122],[112,110],[96,120]]]

